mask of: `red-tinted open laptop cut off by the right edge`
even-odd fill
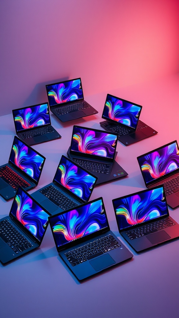
[[[179,148],[173,141],[137,157],[147,188],[163,184],[167,204],[179,206]]]

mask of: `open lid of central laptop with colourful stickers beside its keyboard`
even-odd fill
[[[103,130],[73,126],[70,154],[113,162],[118,135]]]

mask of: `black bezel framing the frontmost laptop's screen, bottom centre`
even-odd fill
[[[81,208],[81,207],[83,207],[83,206],[85,206],[85,205],[87,205],[87,204],[91,204],[91,203],[96,202],[96,201],[98,201],[98,200],[102,200],[103,209],[104,209],[104,213],[105,213],[105,216],[106,216],[106,220],[107,220],[108,227],[107,227],[105,230],[104,230],[104,229],[98,230],[98,231],[93,232],[93,233],[91,233],[91,234],[89,234],[89,235],[86,235],[86,236],[84,236],[84,237],[82,237],[82,238],[75,239],[74,241],[71,241],[71,242],[69,242],[69,243],[66,243],[66,244],[61,245],[61,246],[58,247],[57,244],[56,244],[56,239],[55,239],[55,236],[54,236],[54,232],[53,232],[53,228],[52,228],[52,226],[51,226],[50,220],[51,220],[52,218],[58,217],[58,216],[61,215],[61,214],[65,214],[65,213],[68,213],[69,211],[77,210],[77,209],[79,209],[79,208]],[[58,253],[61,252],[62,250],[67,250],[68,248],[71,248],[71,247],[76,246],[76,245],[78,245],[78,244],[84,243],[85,241],[88,241],[88,240],[93,239],[93,238],[95,238],[95,237],[97,237],[97,236],[99,236],[99,235],[101,235],[101,234],[103,234],[103,233],[106,233],[106,232],[110,231],[110,226],[109,226],[109,222],[108,222],[108,218],[107,218],[107,214],[106,214],[106,210],[105,210],[105,206],[104,206],[104,201],[103,201],[103,198],[102,198],[102,197],[99,197],[99,198],[97,198],[97,199],[95,199],[95,200],[88,201],[88,202],[86,202],[86,203],[84,203],[84,204],[78,205],[78,206],[75,207],[75,208],[68,209],[68,210],[65,211],[65,212],[60,212],[60,213],[58,213],[58,214],[51,215],[48,219],[49,219],[50,228],[51,228],[51,231],[52,231],[52,234],[53,234],[54,242],[55,242],[56,249],[57,249]]]

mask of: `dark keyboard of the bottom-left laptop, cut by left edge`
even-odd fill
[[[0,237],[16,254],[33,246],[20,232],[17,231],[8,219],[0,222]]]

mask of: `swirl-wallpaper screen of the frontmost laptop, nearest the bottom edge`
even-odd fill
[[[57,247],[108,228],[107,216],[101,199],[50,217],[49,221]],[[76,242],[76,244],[78,243]]]

